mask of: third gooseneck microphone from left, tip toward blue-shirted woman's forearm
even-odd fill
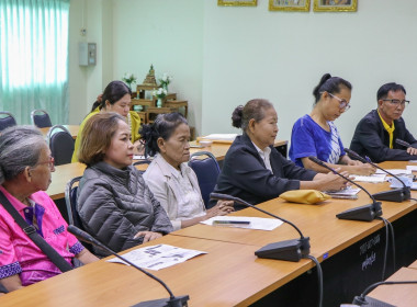
[[[354,181],[350,180],[346,175],[342,175],[341,173],[335,171],[330,167],[326,166],[322,160],[317,159],[316,157],[309,156],[308,159],[316,164],[328,169],[333,173],[341,177],[342,179],[349,181],[350,183],[354,184],[359,189],[361,189],[363,192],[368,194],[368,196],[372,200],[372,204],[356,207],[352,209],[347,209],[342,213],[339,213],[336,215],[337,218],[340,219],[349,219],[349,220],[363,220],[363,221],[371,221],[375,219],[376,217],[382,215],[382,207],[381,207],[381,202],[376,202],[375,198],[364,189],[362,185],[356,183]]]

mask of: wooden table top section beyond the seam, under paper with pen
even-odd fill
[[[403,168],[405,168],[405,164],[406,163],[403,162]],[[362,185],[369,190],[370,193],[390,190],[387,182],[380,184],[363,183]],[[413,191],[412,195],[417,197],[417,192]],[[319,260],[323,260],[323,257],[331,257],[384,227],[383,221],[379,219],[363,223],[342,220],[336,217],[336,214],[346,209],[370,203],[371,200],[369,196],[361,191],[359,192],[358,200],[328,200],[316,205],[305,205],[274,198],[259,204],[258,207],[283,217],[298,226],[303,235],[311,238],[312,254]],[[401,204],[394,202],[383,202],[382,204],[383,217],[390,221],[394,221],[416,208],[417,203],[413,200]],[[243,209],[233,213],[232,215],[269,217],[252,208]],[[218,226],[213,227],[199,224],[193,227],[180,229],[172,235],[253,245],[257,247],[262,247],[275,241],[298,238],[296,230],[288,224],[283,224],[272,231]]]

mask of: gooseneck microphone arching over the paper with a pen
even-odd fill
[[[308,258],[309,254],[309,238],[304,237],[298,227],[296,227],[291,221],[279,217],[272,213],[269,213],[264,209],[258,208],[257,206],[249,204],[248,202],[245,202],[244,200],[240,200],[235,196],[230,196],[227,194],[221,194],[221,193],[211,193],[210,194],[211,200],[216,201],[234,201],[238,204],[241,204],[247,207],[251,207],[253,209],[260,211],[261,213],[264,213],[269,216],[272,216],[277,219],[280,219],[286,224],[290,224],[292,227],[295,228],[295,230],[300,234],[300,239],[294,240],[285,240],[281,242],[270,243],[268,246],[264,246],[263,248],[257,250],[255,254],[259,258],[267,258],[267,259],[277,259],[277,260],[284,260],[284,261],[293,261],[297,262],[302,258]]]

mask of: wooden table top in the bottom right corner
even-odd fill
[[[417,270],[402,268],[387,281],[417,281]],[[360,294],[358,293],[358,295]],[[417,305],[417,284],[381,285],[368,295],[397,307],[415,307]]]

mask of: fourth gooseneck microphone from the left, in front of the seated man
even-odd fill
[[[345,151],[348,152],[348,155],[351,158],[358,159],[362,163],[370,163],[372,167],[374,167],[376,169],[380,169],[380,170],[382,170],[383,172],[385,172],[387,174],[391,174],[392,177],[394,177],[396,180],[398,180],[403,184],[403,189],[394,189],[394,190],[383,191],[383,192],[379,192],[379,193],[373,194],[373,196],[375,197],[375,200],[401,203],[403,201],[408,201],[412,197],[410,186],[407,186],[404,183],[404,181],[401,180],[397,175],[393,174],[392,172],[388,172],[387,170],[381,168],[380,166],[373,163],[370,160],[363,159],[361,156],[359,156],[353,150],[345,148]]]

